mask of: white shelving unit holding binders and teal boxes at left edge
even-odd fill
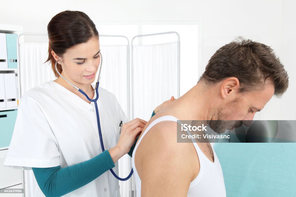
[[[14,86],[17,85],[16,76],[17,76],[17,52],[16,52],[16,38],[17,34],[23,32],[23,27],[19,25],[7,25],[7,24],[0,24],[0,73],[1,76],[4,76],[5,74],[9,73],[9,83],[13,83]],[[12,35],[14,34],[14,35]],[[5,37],[4,37],[5,36]],[[12,37],[13,41],[12,41]],[[8,52],[7,52],[8,50]],[[8,59],[9,56],[9,59]],[[9,62],[11,62],[11,66],[9,67]],[[10,76],[11,75],[11,76]],[[8,76],[8,75],[7,75]],[[1,85],[4,85],[4,77],[0,77],[0,83]],[[2,79],[3,78],[3,79]],[[13,80],[14,79],[14,80]],[[10,88],[10,86],[9,86]],[[1,88],[0,88],[1,89]],[[2,87],[3,89],[3,87]],[[17,95],[15,95],[15,88],[13,88],[13,95],[10,96],[10,101],[12,105],[1,107],[0,106],[0,189],[1,188],[14,188],[19,189],[23,188],[22,186],[22,170],[13,169],[7,166],[4,166],[4,159],[7,154],[7,147],[10,143],[11,139],[11,133],[13,131],[14,122],[3,122],[4,119],[6,119],[9,116],[9,113],[17,112]],[[1,91],[1,94],[3,93],[3,90]],[[3,98],[0,98],[0,100]],[[3,111],[5,110],[5,111]],[[3,119],[3,120],[2,120]],[[8,119],[7,119],[8,120]],[[8,127],[12,127],[9,128]],[[3,133],[5,130],[5,133]],[[4,145],[1,143],[4,142]],[[4,147],[5,146],[5,147]],[[0,197],[21,197],[22,194],[4,194],[1,193]]]

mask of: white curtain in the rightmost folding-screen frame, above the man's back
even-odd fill
[[[133,118],[178,96],[178,42],[133,46]]]

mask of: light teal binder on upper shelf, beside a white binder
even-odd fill
[[[6,34],[8,68],[17,68],[17,34]]]

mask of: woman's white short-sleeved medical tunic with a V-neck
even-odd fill
[[[96,94],[94,98],[96,97]],[[119,123],[127,122],[113,93],[99,87],[97,101],[105,150],[116,145]],[[102,153],[94,103],[49,81],[27,91],[20,100],[15,129],[4,165],[67,167]],[[118,174],[118,162],[113,170]],[[44,196],[40,188],[34,196]],[[65,196],[120,196],[119,181],[108,170]]]

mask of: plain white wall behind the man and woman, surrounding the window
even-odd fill
[[[296,120],[295,33],[293,0],[130,0],[130,1],[4,1],[0,23],[22,25],[25,32],[46,33],[49,20],[66,9],[80,10],[94,22],[202,21],[202,65],[198,73],[181,72],[187,87],[196,84],[208,59],[236,36],[244,36],[271,46],[290,76],[288,91],[282,99],[273,98],[256,119]],[[99,30],[100,32],[100,30]],[[181,65],[189,70],[192,65]],[[196,65],[193,65],[196,66]],[[182,71],[182,70],[181,70]]]

